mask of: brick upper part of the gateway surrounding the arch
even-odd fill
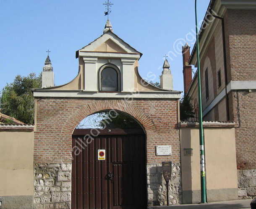
[[[35,163],[71,163],[71,137],[76,125],[95,112],[118,110],[134,117],[146,132],[147,163],[180,163],[178,100],[37,99]],[[156,145],[172,145],[171,156],[155,156]]]

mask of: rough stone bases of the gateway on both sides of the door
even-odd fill
[[[148,204],[167,205],[161,164],[147,165]],[[182,203],[180,163],[172,163],[170,204]],[[34,209],[71,209],[71,164],[34,164]]]

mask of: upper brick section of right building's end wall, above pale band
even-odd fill
[[[255,20],[255,10],[227,10],[229,68],[233,81],[256,80]]]

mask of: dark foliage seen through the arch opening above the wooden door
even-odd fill
[[[106,129],[141,128],[141,126],[138,124],[136,120],[134,120],[129,115],[126,115],[121,112],[101,112],[100,117],[102,118],[102,120],[99,121],[99,125]]]

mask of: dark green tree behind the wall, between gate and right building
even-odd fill
[[[193,105],[191,104],[191,97],[185,94],[180,99],[180,120],[185,121],[190,117],[194,117]]]

